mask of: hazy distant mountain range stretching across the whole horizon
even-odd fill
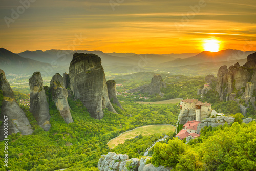
[[[247,56],[256,51],[243,52],[226,49],[219,52],[203,51],[201,53],[135,54],[52,49],[47,51],[24,51],[15,54],[0,48],[0,69],[3,69],[7,74],[32,74],[35,71],[50,76],[56,72],[62,74],[63,72],[69,72],[69,65],[75,52],[93,53],[100,56],[106,74],[153,71],[190,76],[215,74],[220,66],[229,66],[236,62],[243,65]]]

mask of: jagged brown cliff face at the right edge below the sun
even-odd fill
[[[227,69],[222,66],[217,75],[216,91],[220,100],[234,100],[236,96],[241,96],[248,103],[255,90],[256,83],[256,53],[247,57],[245,65],[236,63]]]

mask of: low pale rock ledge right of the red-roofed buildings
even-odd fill
[[[234,117],[231,117],[231,116],[226,116],[226,117],[225,116],[217,116],[216,118],[212,118],[212,117],[205,118],[201,121],[201,123],[198,124],[197,133],[200,133],[201,129],[204,126],[217,127],[217,126],[220,126],[220,125],[224,125],[225,122],[227,124],[230,124],[230,123],[234,122]]]

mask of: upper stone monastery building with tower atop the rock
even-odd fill
[[[196,121],[201,121],[204,118],[210,116],[211,104],[206,102],[198,101],[197,99],[185,99],[181,101],[181,112],[185,110],[194,110],[196,113]]]

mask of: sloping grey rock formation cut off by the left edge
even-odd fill
[[[1,117],[2,122],[0,126],[0,140],[4,137],[4,116],[8,117],[8,135],[21,132],[23,135],[29,135],[33,133],[28,118],[22,109],[20,109],[18,103],[15,100],[13,91],[9,82],[6,79],[5,72],[0,70],[0,90],[3,91],[4,100],[2,101]]]

